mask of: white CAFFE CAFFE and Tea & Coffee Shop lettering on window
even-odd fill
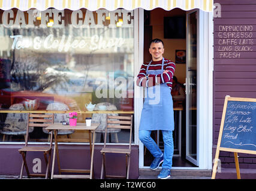
[[[40,20],[38,20],[40,16]],[[45,11],[38,10],[28,10],[20,11],[17,10],[17,14],[14,14],[13,10],[7,10],[2,13],[2,24],[4,27],[13,29],[45,29],[47,28],[47,23],[50,20],[53,21],[53,28],[64,28],[70,24],[74,28],[86,28],[86,29],[115,29],[116,23],[122,19],[122,28],[132,28],[134,27],[134,13],[133,11],[127,10],[97,10],[97,11],[82,11],[76,10],[72,11],[65,17],[64,10],[48,9]],[[108,19],[106,19],[108,17]],[[65,23],[65,22],[70,23]],[[125,43],[123,38],[109,38],[104,39],[103,36],[92,35],[92,36],[82,36],[80,39],[74,39],[73,36],[62,35],[61,39],[55,39],[52,34],[42,37],[36,36],[31,39],[29,36],[23,35],[13,35],[10,36],[13,39],[12,49],[19,50],[20,48],[34,48],[39,50],[41,48],[45,49],[58,49],[61,51],[68,51],[70,48],[89,48],[89,50],[100,50],[104,48],[117,48],[121,47]],[[87,38],[87,39],[86,39]]]

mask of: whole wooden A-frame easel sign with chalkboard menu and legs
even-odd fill
[[[237,153],[256,154],[255,133],[256,98],[226,96],[213,164],[212,179],[215,179],[220,151],[234,153],[237,179],[241,178]]]

